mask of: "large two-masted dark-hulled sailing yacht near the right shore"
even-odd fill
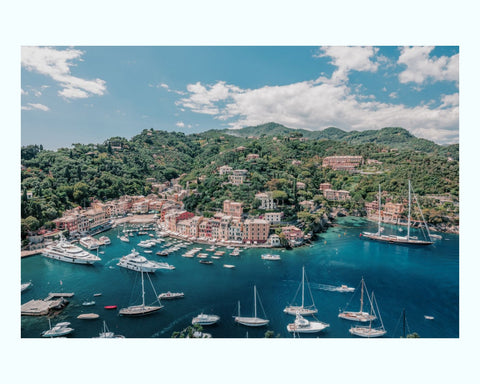
[[[391,244],[407,244],[407,245],[431,245],[433,241],[431,239],[430,231],[428,229],[427,224],[425,223],[425,219],[423,217],[422,210],[420,209],[420,205],[418,204],[418,200],[413,193],[415,201],[417,203],[418,209],[420,210],[420,214],[422,216],[423,224],[425,225],[425,229],[427,231],[427,238],[428,240],[420,240],[416,236],[410,236],[410,220],[411,220],[411,206],[412,206],[412,186],[410,180],[408,180],[408,222],[407,222],[407,236],[396,236],[396,235],[382,235],[382,227],[381,227],[381,193],[380,193],[380,185],[378,186],[378,231],[376,233],[372,232],[362,232],[360,234],[361,237],[365,237],[367,239],[376,240],[376,241],[383,241],[386,243]]]

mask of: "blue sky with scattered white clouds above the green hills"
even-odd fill
[[[22,145],[267,122],[458,143],[459,47],[21,47]]]

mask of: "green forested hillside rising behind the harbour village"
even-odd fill
[[[244,201],[245,211],[255,213],[254,195],[259,191],[272,191],[292,220],[304,200],[314,200],[321,212],[337,204],[359,211],[365,201],[375,199],[379,183],[382,190],[400,198],[409,178],[420,196],[449,194],[458,200],[458,145],[439,146],[402,128],[310,132],[270,123],[233,133],[211,130],[185,135],[150,129],[131,140],[113,137],[101,144],[73,144],[56,151],[41,145],[22,147],[21,217],[30,229],[50,225],[64,210],[88,206],[91,198],[146,195],[151,191],[147,178],[162,182],[180,175],[184,186],[189,182],[196,189],[185,200],[186,208],[207,214],[227,198]],[[259,158],[247,160],[248,154]],[[364,165],[362,173],[354,174],[322,168],[322,159],[332,155],[360,155],[381,164]],[[227,184],[227,177],[217,173],[222,165],[248,170],[248,184]],[[305,189],[298,189],[297,182]],[[349,191],[352,199],[326,201],[319,191],[324,182]],[[30,193],[32,198],[27,196]],[[458,207],[445,204],[429,209],[432,221],[458,213]]]

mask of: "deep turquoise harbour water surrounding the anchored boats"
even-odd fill
[[[302,266],[311,283],[311,292],[319,310],[317,319],[330,324],[323,333],[302,334],[302,338],[352,338],[348,332],[354,324],[338,318],[340,308],[350,302],[348,308],[357,310],[358,294],[329,291],[329,286],[346,284],[357,287],[362,276],[369,291],[375,291],[380,308],[386,337],[402,335],[402,310],[405,308],[408,329],[422,338],[457,338],[459,336],[459,237],[444,234],[442,240],[427,247],[400,246],[377,243],[359,237],[361,231],[376,230],[376,224],[358,218],[340,218],[337,226],[321,234],[312,246],[290,251],[275,251],[281,261],[264,261],[265,250],[247,249],[240,256],[229,256],[229,250],[213,265],[203,265],[199,259],[181,255],[192,245],[180,249],[168,257],[159,257],[155,252],[161,245],[152,248],[153,253],[145,257],[167,261],[176,269],[159,270],[150,274],[157,294],[166,291],[181,291],[185,298],[162,301],[164,308],[150,316],[128,318],[118,316],[118,310],[106,310],[105,305],[122,308],[141,303],[140,274],[116,265],[121,256],[129,253],[133,246],[148,236],[136,236],[130,244],[117,239],[116,231],[107,235],[112,245],[102,247],[102,261],[93,266],[72,265],[43,256],[32,256],[21,261],[22,282],[32,281],[33,286],[21,295],[21,302],[45,298],[49,292],[74,292],[70,304],[52,322],[69,321],[75,329],[69,337],[89,338],[98,336],[102,320],[110,330],[128,338],[171,337],[190,325],[191,319],[199,314],[214,313],[221,317],[218,324],[205,327],[215,338],[263,337],[272,330],[280,337],[292,337],[286,325],[294,317],[283,313],[301,280]],[[387,226],[388,227],[388,226]],[[391,227],[393,228],[393,227]],[[97,236],[98,237],[98,236]],[[202,248],[208,248],[203,246]],[[223,268],[223,264],[234,264],[235,269]],[[257,286],[268,327],[249,328],[236,324],[237,301],[241,302],[242,315],[253,313],[253,285]],[[155,297],[148,279],[145,280],[146,302]],[[102,296],[93,297],[101,292]],[[353,297],[353,299],[352,299]],[[95,300],[90,307],[83,301]],[[309,298],[307,295],[307,304]],[[98,313],[97,320],[77,320],[80,313]],[[259,316],[263,313],[259,306]],[[435,320],[425,320],[431,315]],[[37,338],[48,328],[48,318],[21,318],[21,336]]]

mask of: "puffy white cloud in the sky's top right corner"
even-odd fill
[[[401,83],[423,84],[431,81],[458,83],[459,55],[430,57],[433,47],[404,47],[400,50],[398,64],[406,69],[398,76]]]

